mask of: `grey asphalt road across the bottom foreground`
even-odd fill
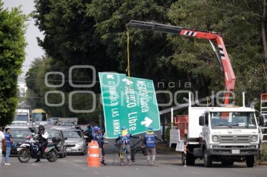
[[[114,149],[113,149],[114,150]],[[64,159],[58,159],[51,163],[46,159],[34,163],[31,159],[28,163],[20,163],[17,157],[10,157],[10,166],[1,165],[1,177],[68,177],[68,176],[94,176],[94,177],[141,177],[141,176],[187,176],[187,177],[263,177],[266,176],[266,166],[254,166],[247,168],[245,164],[235,163],[231,167],[223,167],[215,163],[212,168],[205,168],[203,161],[196,162],[195,166],[184,167],[181,158],[177,155],[157,154],[158,166],[146,166],[146,157],[137,154],[137,162],[132,166],[119,166],[119,157],[116,153],[113,163],[113,150],[108,148],[106,155],[107,166],[98,168],[88,167],[86,156],[68,155]]]

